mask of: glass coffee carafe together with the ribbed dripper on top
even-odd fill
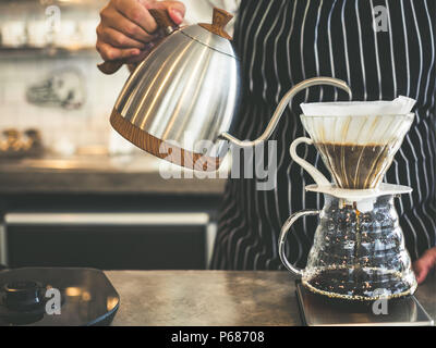
[[[404,247],[393,200],[410,187],[382,183],[409,130],[413,114],[302,115],[311,138],[291,145],[292,159],[315,179],[307,191],[324,195],[320,211],[291,215],[279,238],[279,254],[288,270],[301,275],[311,291],[329,298],[374,301],[412,295],[416,279]],[[301,142],[314,145],[334,184],[296,154]],[[286,257],[293,223],[317,215],[318,226],[304,270]]]

